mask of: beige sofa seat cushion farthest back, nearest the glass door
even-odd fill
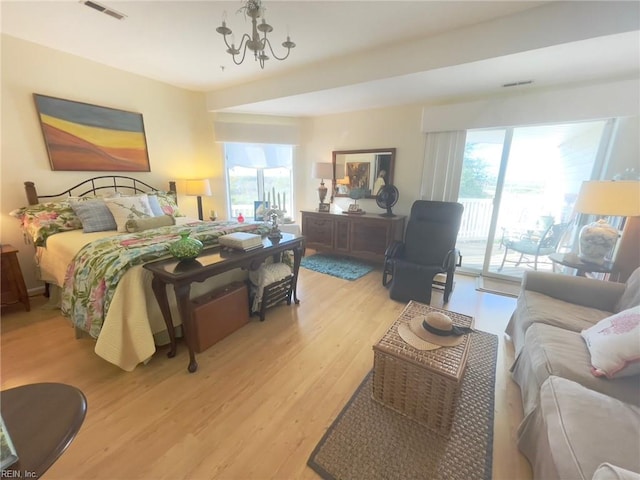
[[[516,355],[524,345],[525,332],[534,323],[545,323],[574,332],[587,329],[613,312],[565,302],[542,293],[520,292],[516,309],[507,325]]]

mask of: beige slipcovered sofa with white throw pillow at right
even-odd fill
[[[527,271],[506,333],[536,479],[640,479],[640,268],[625,284]]]

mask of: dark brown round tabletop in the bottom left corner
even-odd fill
[[[18,455],[5,471],[40,478],[80,430],[87,399],[71,385],[34,383],[0,392],[0,407]]]

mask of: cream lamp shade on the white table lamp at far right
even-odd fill
[[[640,182],[583,182],[574,211],[618,217],[640,215]]]

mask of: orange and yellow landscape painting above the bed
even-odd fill
[[[150,172],[141,113],[33,94],[51,170]]]

